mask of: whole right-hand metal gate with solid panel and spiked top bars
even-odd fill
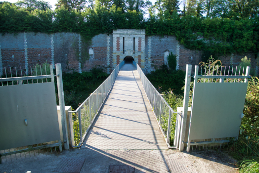
[[[199,72],[195,66],[188,137],[183,141],[187,151],[221,148],[238,138],[249,73],[250,67],[211,65],[202,66]]]

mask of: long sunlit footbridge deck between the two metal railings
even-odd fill
[[[121,68],[81,148],[84,147],[168,149],[132,64]]]

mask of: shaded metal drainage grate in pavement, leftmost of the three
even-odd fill
[[[85,158],[67,157],[60,161],[59,166],[55,169],[58,173],[80,173],[85,162]]]

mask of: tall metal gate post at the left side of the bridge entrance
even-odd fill
[[[57,74],[57,89],[58,89],[58,100],[60,106],[61,114],[61,125],[63,131],[64,147],[65,150],[69,149],[68,132],[67,132],[67,119],[65,110],[65,100],[64,100],[64,90],[62,82],[62,69],[61,64],[56,64],[56,74]]]

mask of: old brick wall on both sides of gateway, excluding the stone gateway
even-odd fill
[[[109,37],[109,44],[107,43],[107,37]],[[53,43],[51,43],[52,41]],[[45,61],[51,64],[53,60],[54,63],[61,63],[62,70],[65,72],[78,72],[79,44],[81,44],[81,58],[83,58],[84,52],[88,52],[89,48],[93,49],[93,55],[90,55],[89,59],[81,65],[82,71],[88,71],[94,66],[101,66],[107,67],[107,71],[111,73],[113,64],[118,64],[120,61],[120,57],[118,60],[118,54],[115,54],[116,59],[113,59],[113,45],[118,45],[118,43],[120,45],[120,38],[116,38],[113,41],[112,34],[99,34],[93,37],[91,45],[86,45],[84,42],[81,43],[79,34],[75,33],[56,33],[53,35],[43,33],[5,34],[0,35],[0,65],[6,68],[22,67],[25,70],[27,52],[29,69],[30,66],[42,65]],[[141,44],[141,38],[137,38],[136,46],[138,51],[141,48]],[[185,70],[186,64],[191,64],[194,71],[194,66],[201,61],[202,51],[190,50],[183,45],[179,45],[173,36],[146,36],[143,44],[145,46],[143,51],[143,54],[145,54],[145,73],[155,70],[154,67],[159,68],[160,65],[165,63],[164,56],[166,51],[173,52],[174,55],[179,54],[178,66],[181,70]],[[108,48],[107,45],[109,46]],[[179,46],[179,51],[177,51],[177,46]],[[120,46],[117,48],[120,48]],[[138,57],[137,63],[142,65],[142,57],[136,56]],[[150,56],[150,60],[148,60],[148,56]],[[219,59],[222,61],[223,66],[229,66],[231,61],[234,66],[237,66],[244,56],[251,59],[252,68],[257,67],[256,55],[253,52],[222,55]]]

